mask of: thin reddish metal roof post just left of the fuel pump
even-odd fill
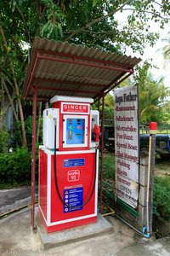
[[[37,88],[33,90],[32,106],[32,145],[31,145],[31,227],[32,231],[36,229],[35,225],[35,172],[36,172],[36,117],[37,117]]]

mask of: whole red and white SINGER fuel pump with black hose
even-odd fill
[[[91,98],[54,96],[43,111],[39,212],[47,232],[97,222],[99,112]]]

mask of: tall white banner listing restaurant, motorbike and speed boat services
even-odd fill
[[[114,90],[116,196],[136,208],[139,197],[139,115],[137,85]]]

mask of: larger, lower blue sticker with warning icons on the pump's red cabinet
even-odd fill
[[[83,205],[83,188],[65,189],[63,191],[63,212],[75,212],[82,210]]]

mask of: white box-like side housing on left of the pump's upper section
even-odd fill
[[[43,145],[54,148],[54,119],[56,119],[56,148],[59,148],[59,109],[47,108],[43,111]]]

